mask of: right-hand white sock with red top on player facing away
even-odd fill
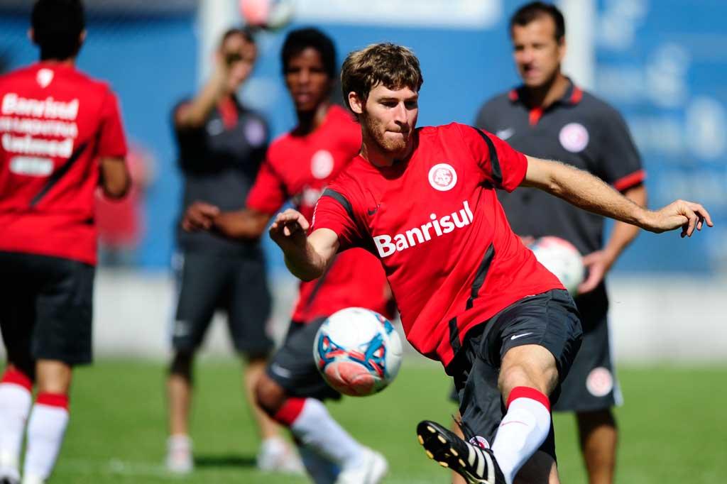
[[[53,470],[68,425],[68,396],[39,393],[28,421],[23,481],[42,482]]]

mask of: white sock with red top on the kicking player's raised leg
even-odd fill
[[[550,400],[529,387],[515,387],[507,399],[507,414],[502,418],[492,444],[505,482],[515,475],[530,456],[545,442],[550,432]]]

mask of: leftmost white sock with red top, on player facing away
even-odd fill
[[[0,380],[0,469],[18,469],[32,392],[33,382],[28,376],[17,370],[5,371]]]

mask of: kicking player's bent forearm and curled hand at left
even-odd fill
[[[270,225],[270,238],[280,246],[290,272],[302,281],[321,277],[338,251],[338,235],[321,228],[305,236],[308,220],[293,209],[276,216]]]

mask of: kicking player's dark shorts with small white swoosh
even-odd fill
[[[507,411],[497,387],[505,353],[523,344],[545,347],[555,357],[560,382],[567,376],[581,344],[578,310],[567,291],[557,289],[526,297],[470,329],[462,348],[447,367],[459,396],[462,421],[474,435],[492,445]],[[558,400],[558,388],[550,395]],[[553,422],[540,451],[555,459]]]

